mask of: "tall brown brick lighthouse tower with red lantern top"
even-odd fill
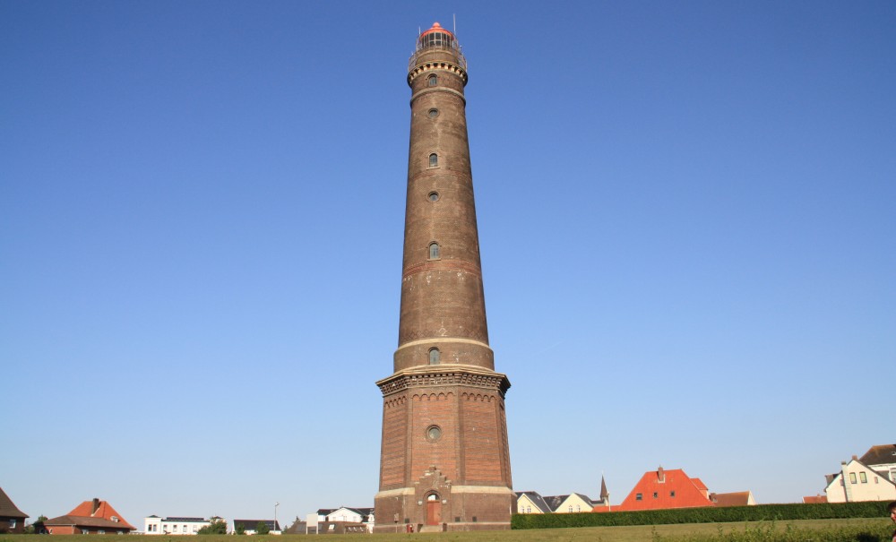
[[[509,529],[504,392],[488,346],[467,141],[467,63],[423,32],[408,66],[410,151],[394,372],[383,391],[375,530]]]

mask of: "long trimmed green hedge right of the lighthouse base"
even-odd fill
[[[511,529],[611,527],[668,523],[721,523],[726,521],[833,520],[885,518],[887,503],[758,504],[756,506],[705,506],[638,512],[581,512],[513,514]]]

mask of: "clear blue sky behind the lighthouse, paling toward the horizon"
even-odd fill
[[[892,2],[0,3],[0,486],[372,506],[407,60],[467,117],[514,488],[760,503],[892,433]]]

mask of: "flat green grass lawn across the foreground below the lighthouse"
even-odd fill
[[[790,526],[790,531],[788,531]],[[797,529],[796,532],[793,529]],[[807,533],[806,530],[811,530]],[[778,533],[773,535],[772,531]],[[526,530],[492,530],[478,532],[447,532],[423,534],[388,534],[388,535],[310,535],[322,537],[332,542],[349,540],[369,540],[371,542],[405,542],[419,540],[438,540],[440,542],[569,542],[595,540],[603,542],[667,542],[680,540],[695,541],[732,541],[732,542],[841,542],[856,540],[855,533],[868,533],[870,538],[858,538],[861,542],[890,542],[892,523],[889,519],[851,519],[851,520],[789,520],[776,523],[690,523],[677,525],[639,525],[632,527],[583,527],[577,529],[526,529]],[[0,535],[0,542],[28,542],[33,535]],[[132,535],[134,536],[134,535]],[[98,537],[114,538],[116,535],[90,535],[88,539]],[[851,538],[849,538],[851,537]],[[263,535],[254,536],[253,542],[301,542],[306,535]],[[53,536],[39,538],[44,542],[85,542],[83,535]],[[149,536],[144,542],[234,542],[231,535],[220,536]],[[34,541],[36,542],[36,541]]]

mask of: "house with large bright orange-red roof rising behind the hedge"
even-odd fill
[[[625,500],[612,507],[595,506],[592,512],[628,512],[714,506],[710,492],[700,478],[692,478],[682,469],[650,470],[634,485]]]

